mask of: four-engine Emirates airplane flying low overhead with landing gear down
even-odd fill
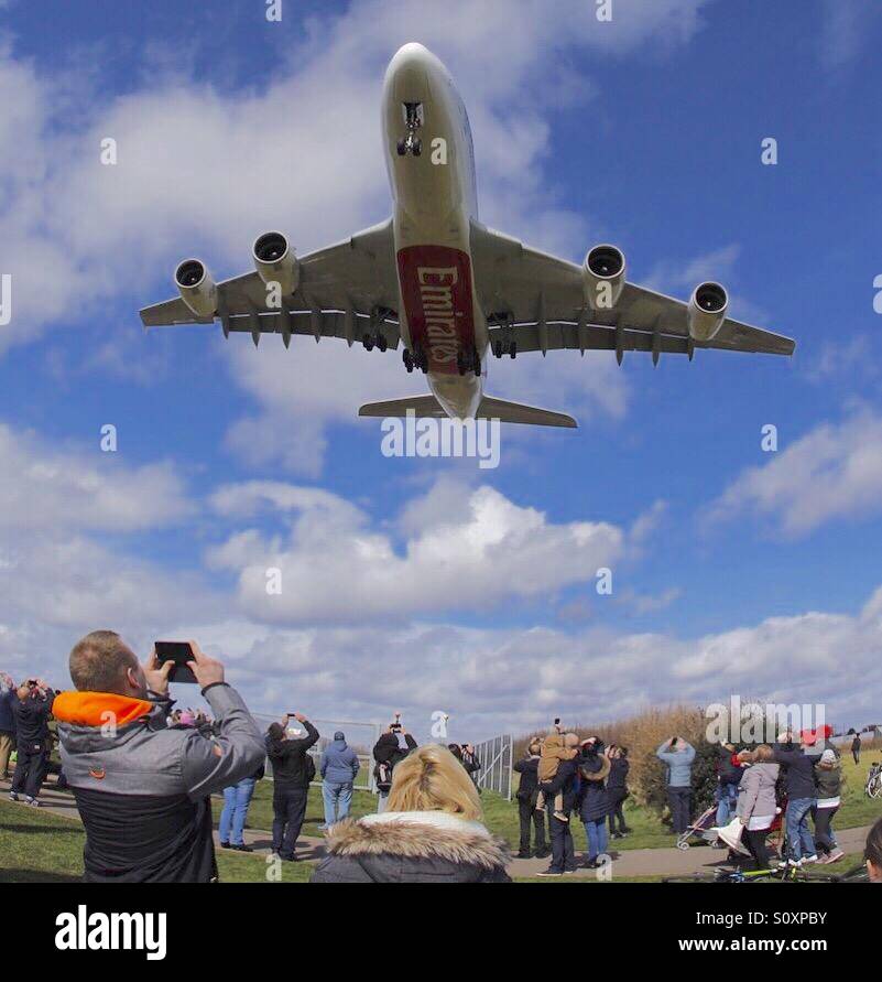
[[[382,96],[392,217],[338,245],[297,257],[280,231],[258,237],[254,270],[215,283],[206,265],[175,270],[179,298],[144,307],[145,327],[211,324],[248,332],[402,348],[409,373],[431,395],[372,402],[361,417],[498,419],[576,427],[563,412],[494,399],[483,391],[489,358],[533,352],[647,352],[686,355],[718,348],[792,355],[795,343],[728,316],[716,282],[687,303],[628,282],[621,249],[601,244],[582,266],[557,259],[482,225],[471,129],[444,64],[405,44],[385,73]]]

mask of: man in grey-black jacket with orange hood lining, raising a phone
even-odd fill
[[[112,630],[74,645],[75,692],[55,698],[62,764],[86,828],[88,883],[217,880],[210,795],[253,774],[263,740],[220,661],[195,641],[186,667],[215,716],[215,735],[170,727],[175,661],[142,666]]]

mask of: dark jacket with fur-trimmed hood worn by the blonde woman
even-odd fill
[[[412,812],[416,817],[418,812]],[[345,819],[326,834],[312,883],[509,883],[508,845],[471,822]]]

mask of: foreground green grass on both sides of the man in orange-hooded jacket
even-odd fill
[[[0,883],[78,883],[86,833],[70,818],[0,800]],[[265,883],[263,856],[218,850],[221,883]],[[282,883],[303,883],[313,863],[282,863]]]

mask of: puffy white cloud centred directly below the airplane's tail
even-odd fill
[[[436,510],[442,494],[448,503]],[[554,525],[489,486],[447,483],[428,493],[428,507],[412,501],[403,541],[374,530],[360,509],[324,492],[252,483],[221,489],[214,501],[225,511],[251,509],[260,498],[291,512],[287,529],[273,536],[258,528],[239,531],[210,550],[208,562],[233,571],[242,609],[269,623],[484,611],[594,581],[598,568],[625,550],[614,526]],[[425,519],[418,527],[416,517]],[[268,594],[271,569],[281,570],[281,594]]]

